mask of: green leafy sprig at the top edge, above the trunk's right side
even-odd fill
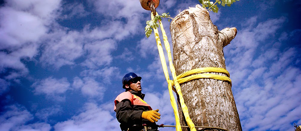
[[[217,13],[217,11],[218,11],[217,3],[221,4],[223,7],[225,7],[226,4],[227,4],[227,6],[231,6],[231,4],[233,4],[234,2],[239,1],[239,0],[215,0],[214,3],[210,0],[198,0],[198,1],[202,4],[203,8],[206,9],[206,7],[208,7],[207,10]]]

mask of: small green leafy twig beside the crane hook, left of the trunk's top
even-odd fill
[[[158,21],[161,21],[161,17],[163,18],[169,18],[168,22],[170,22],[170,19],[173,19],[173,17],[170,17],[170,15],[168,15],[168,13],[162,13],[161,15],[156,15],[154,16],[154,20],[148,20],[146,21],[146,26],[145,26],[145,36],[148,38],[150,37],[151,33],[152,33],[152,28],[156,29],[159,27],[159,23]]]

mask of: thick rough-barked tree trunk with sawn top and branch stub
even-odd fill
[[[213,25],[209,12],[196,5],[178,14],[171,22],[170,31],[177,75],[201,67],[226,69],[223,47],[236,36],[236,28],[219,31],[217,26]],[[226,76],[223,73],[212,74]],[[183,83],[181,90],[195,126],[242,130],[229,82],[197,79]],[[182,109],[179,100],[178,105],[180,113]],[[187,125],[182,113],[180,119],[181,125]]]

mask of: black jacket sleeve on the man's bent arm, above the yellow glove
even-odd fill
[[[128,99],[122,100],[116,104],[116,118],[120,124],[138,125],[141,124],[142,110],[134,110],[131,101]]]

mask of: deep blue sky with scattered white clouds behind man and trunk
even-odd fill
[[[175,17],[196,4],[161,0],[157,12]],[[300,5],[241,0],[210,12],[219,30],[238,30],[223,51],[243,130],[301,125]],[[119,130],[113,100],[128,72],[142,77],[158,124],[174,125],[147,20],[138,0],[1,1],[0,130]],[[163,25],[172,43],[167,19]]]

